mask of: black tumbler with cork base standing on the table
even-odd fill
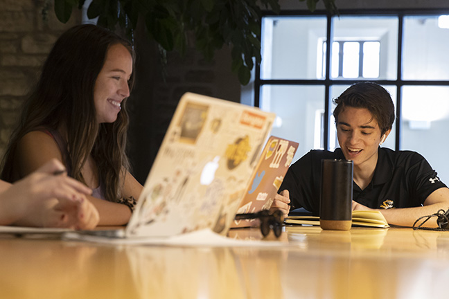
[[[322,160],[319,226],[350,230],[352,224],[353,161]]]

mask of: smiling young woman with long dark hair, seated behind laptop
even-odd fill
[[[3,160],[16,181],[57,158],[94,190],[99,225],[127,224],[142,186],[125,154],[126,102],[133,82],[131,45],[95,25],[63,33],[44,63]]]

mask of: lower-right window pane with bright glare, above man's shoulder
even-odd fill
[[[422,154],[449,183],[449,87],[403,87],[402,148]]]

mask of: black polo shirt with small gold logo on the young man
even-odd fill
[[[319,215],[321,161],[344,159],[335,152],[312,150],[290,166],[279,191],[289,190],[290,205]],[[364,190],[353,183],[353,200],[369,208],[410,208],[421,206],[439,188],[446,188],[421,154],[379,147],[373,179]]]

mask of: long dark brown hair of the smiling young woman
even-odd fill
[[[71,176],[85,182],[82,165],[92,154],[98,167],[98,179],[105,197],[116,201],[123,183],[124,170],[129,168],[125,154],[128,114],[126,101],[114,123],[98,124],[94,105],[94,86],[103,68],[107,51],[122,44],[130,51],[132,45],[112,31],[87,24],[74,26],[55,42],[42,67],[37,86],[24,105],[19,126],[12,134],[3,158],[1,178],[14,179],[12,165],[17,143],[28,132],[48,127],[67,129]],[[130,78],[130,89],[134,75]]]

